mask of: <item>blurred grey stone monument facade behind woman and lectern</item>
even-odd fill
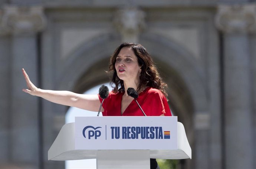
[[[47,151],[70,107],[22,92],[21,69],[84,93],[109,82],[121,42],[150,52],[192,149],[159,163],[256,169],[256,0],[0,0],[1,169],[65,168]]]

